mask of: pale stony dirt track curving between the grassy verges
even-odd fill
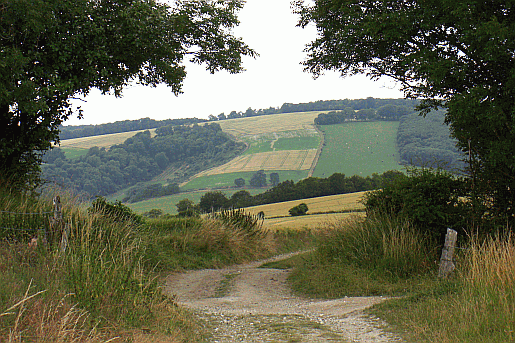
[[[383,297],[313,300],[291,294],[288,270],[258,268],[274,259],[174,274],[167,291],[206,321],[211,342],[401,342],[363,314]]]

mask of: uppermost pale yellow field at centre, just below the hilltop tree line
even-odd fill
[[[224,132],[240,138],[281,131],[313,129],[314,120],[326,111],[280,113],[268,116],[246,117],[218,121]]]

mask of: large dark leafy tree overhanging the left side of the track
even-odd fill
[[[231,29],[239,0],[4,0],[0,5],[0,172],[11,184],[39,179],[41,153],[59,126],[82,116],[71,99],[92,88],[121,96],[131,82],[176,95],[184,59],[211,73],[242,71],[256,53]],[[75,112],[77,111],[77,112]]]

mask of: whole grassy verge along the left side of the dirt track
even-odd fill
[[[0,240],[1,342],[200,342],[203,329],[162,292],[161,273],[267,257],[310,241],[309,233],[268,234],[223,218],[136,225],[61,199],[70,233],[66,252],[42,237],[29,244],[37,221],[20,219],[14,224],[23,230]],[[18,213],[51,208],[44,199],[5,190],[0,205]]]

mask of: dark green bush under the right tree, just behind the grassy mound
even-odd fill
[[[367,215],[404,218],[421,232],[439,237],[446,228],[464,232],[471,212],[465,180],[443,170],[408,168],[408,175],[365,195]]]

